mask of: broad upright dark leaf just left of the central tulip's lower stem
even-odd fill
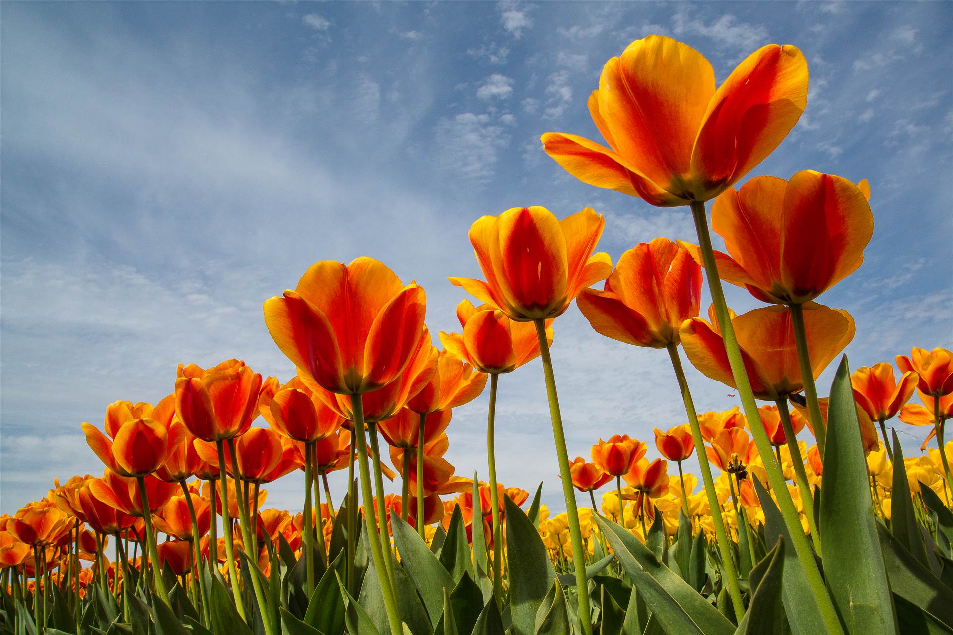
[[[509,496],[506,506],[506,546],[510,564],[510,613],[514,635],[534,635],[536,614],[556,570],[537,527]]]

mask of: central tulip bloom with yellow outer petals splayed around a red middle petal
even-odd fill
[[[612,271],[608,254],[592,255],[604,225],[590,208],[562,221],[538,207],[483,216],[470,228],[470,243],[486,282],[450,282],[517,322],[555,318]]]

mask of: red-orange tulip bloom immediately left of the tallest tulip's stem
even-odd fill
[[[679,327],[699,314],[701,268],[667,238],[622,254],[605,289],[586,288],[577,304],[596,332],[637,347],[679,343]]]

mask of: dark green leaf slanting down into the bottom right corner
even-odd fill
[[[914,558],[885,526],[879,526],[877,533],[894,594],[953,628],[953,590]]]

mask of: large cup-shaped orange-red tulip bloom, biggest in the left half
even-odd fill
[[[265,325],[298,375],[339,394],[395,381],[422,337],[426,295],[371,258],[322,261],[265,302]]]

